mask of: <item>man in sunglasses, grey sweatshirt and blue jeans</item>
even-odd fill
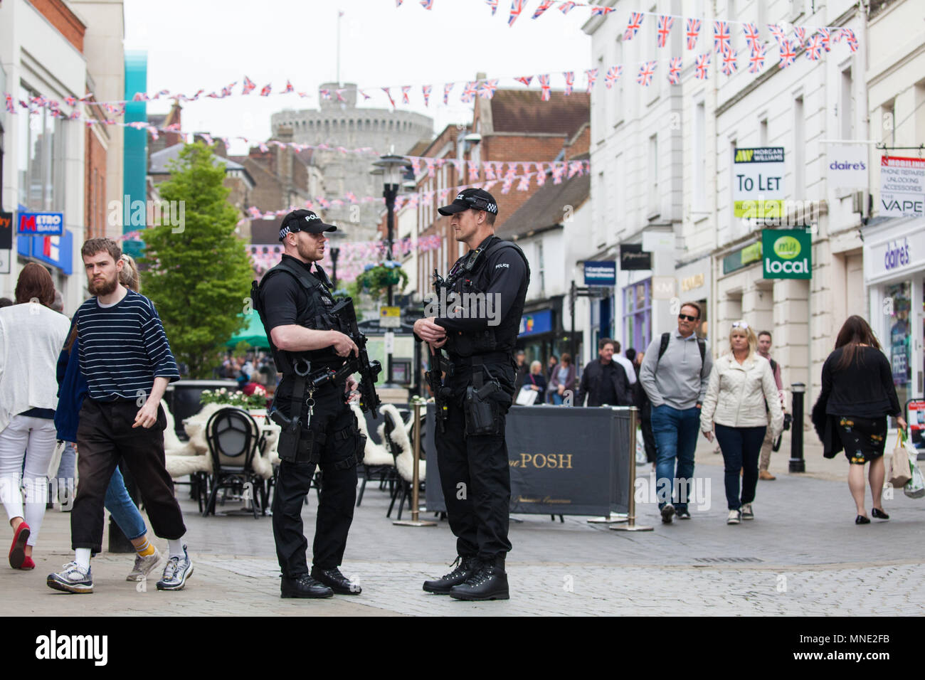
[[[639,382],[652,403],[652,434],[658,454],[655,490],[665,524],[672,523],[675,513],[678,519],[691,517],[687,501],[693,488],[700,404],[713,367],[706,343],[694,332],[699,323],[700,306],[682,304],[678,328],[649,343],[639,370]]]

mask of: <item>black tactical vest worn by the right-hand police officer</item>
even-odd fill
[[[520,247],[511,241],[501,241],[497,236],[492,236],[487,242],[485,248],[478,253],[466,253],[450,269],[450,276],[447,279],[449,291],[454,291],[460,295],[464,293],[484,293],[487,291],[488,283],[491,278],[491,270],[488,269],[488,253],[497,253],[500,249],[510,248],[517,252],[524,260],[526,267],[526,280],[521,283],[524,288],[524,295],[519,295],[520,288],[517,291],[504,291],[506,295],[516,295],[511,311],[500,319],[498,326],[488,326],[483,330],[474,333],[462,333],[456,331],[447,332],[447,344],[444,349],[450,355],[472,356],[473,354],[486,354],[488,352],[512,352],[517,342],[517,333],[520,330],[521,316],[524,315],[524,297],[526,287],[530,282],[530,263],[527,262],[524,252]],[[475,263],[471,268],[467,268],[470,262],[469,258],[475,255]],[[448,293],[449,293],[448,291]]]

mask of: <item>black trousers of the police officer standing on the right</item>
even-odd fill
[[[495,372],[494,367],[492,370]],[[465,434],[465,414],[459,399],[450,402],[447,411],[446,431],[441,433],[435,428],[434,437],[440,486],[457,553],[483,561],[503,559],[511,550],[506,409],[502,406],[499,434],[475,437]]]

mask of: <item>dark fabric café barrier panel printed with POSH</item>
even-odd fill
[[[428,512],[444,512],[435,407],[427,404]],[[512,406],[505,438],[511,470],[511,512],[605,515],[629,510],[630,410]]]

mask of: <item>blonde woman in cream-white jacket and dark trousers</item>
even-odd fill
[[[758,338],[745,321],[729,333],[729,352],[716,360],[709,374],[707,395],[700,409],[700,431],[713,440],[713,430],[725,462],[727,524],[755,519],[752,502],[758,485],[758,459],[767,428],[772,439],[783,429],[783,411],[771,362],[755,352]],[[768,422],[768,414],[771,422]],[[739,471],[742,496],[739,497]]]

